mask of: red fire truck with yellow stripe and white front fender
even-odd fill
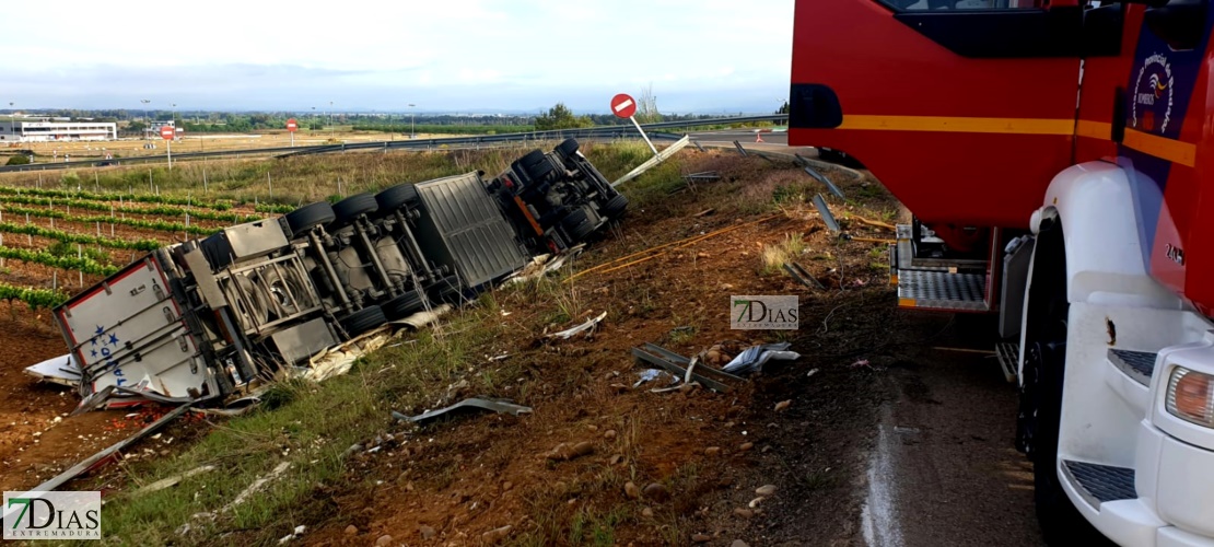
[[[1055,545],[1214,546],[1212,26],[1209,0],[796,2],[789,141],[914,214],[900,305],[998,314]]]

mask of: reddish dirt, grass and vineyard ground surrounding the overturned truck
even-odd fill
[[[609,179],[647,156],[628,142],[583,150]],[[49,309],[81,281],[153,244],[398,182],[495,173],[522,152],[0,175],[0,484],[30,487],[165,411],[68,417],[74,394],[22,373],[64,353]],[[720,180],[682,177],[703,171]],[[830,198],[847,233],[890,237],[857,220],[902,214],[880,185],[845,169],[827,175],[849,196]],[[629,216],[571,266],[483,294],[346,376],[276,385],[250,415],[178,421],[69,486],[104,492],[106,535],[138,545],[263,545],[300,525],[308,545],[860,542],[863,455],[887,397],[881,378],[951,322],[895,312],[884,246],[830,233],[809,203],[821,188],[789,162],[687,151],[622,190]],[[794,282],[779,267],[787,260],[827,289]],[[801,328],[731,331],[731,294],[796,294]],[[544,338],[603,311],[589,335]],[[727,394],[652,393],[652,383],[635,384],[642,368],[629,355],[642,343],[694,355],[777,340],[802,357]],[[424,428],[390,416],[466,396],[506,397],[534,413]],[[562,442],[592,450],[545,456]],[[220,511],[282,464],[288,470],[246,504]],[[219,470],[141,491],[200,466]],[[630,483],[647,491],[634,495]],[[764,485],[777,494],[756,503]],[[206,512],[216,517],[195,517]]]

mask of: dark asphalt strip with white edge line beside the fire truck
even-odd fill
[[[1016,390],[992,356],[941,349],[964,344],[953,334],[890,368],[869,456],[869,545],[1043,545],[1032,466],[1012,447]]]

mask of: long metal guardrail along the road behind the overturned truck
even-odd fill
[[[652,124],[642,124],[641,126],[647,130],[660,130],[660,129],[676,129],[676,128],[699,128],[707,125],[731,125],[731,124],[745,124],[745,123],[762,123],[762,122],[787,122],[788,114],[773,114],[773,115],[747,115],[747,117],[734,117],[734,118],[711,118],[711,119],[693,119],[693,120],[680,120],[680,122],[658,122]],[[501,135],[476,135],[466,137],[442,137],[442,139],[414,139],[408,141],[380,141],[380,142],[354,142],[354,143],[341,143],[341,145],[319,145],[319,146],[299,146],[299,147],[274,147],[274,148],[248,148],[248,150],[226,150],[216,152],[187,152],[178,153],[174,156],[174,159],[192,159],[192,158],[222,158],[222,157],[236,157],[240,156],[278,156],[278,157],[291,157],[291,156],[307,156],[307,154],[320,154],[320,153],[333,153],[333,152],[345,152],[345,151],[359,151],[359,150],[435,150],[435,148],[454,148],[454,147],[480,147],[482,145],[497,145],[505,142],[522,142],[527,143],[531,141],[560,141],[565,139],[635,139],[639,137],[636,131],[631,125],[599,125],[594,128],[584,129],[557,129],[551,131],[527,131],[527,132],[506,132]],[[649,134],[651,139],[677,141],[682,135],[670,134],[670,132],[653,132]],[[49,171],[58,169],[79,169],[79,168],[95,168],[102,167],[101,164],[113,163],[113,164],[132,164],[132,163],[157,163],[164,162],[164,156],[135,156],[129,158],[118,159],[90,159],[85,162],[63,162],[63,163],[32,163],[27,165],[0,165],[0,173],[15,173],[15,171]]]

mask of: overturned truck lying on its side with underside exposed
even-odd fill
[[[626,207],[571,139],[492,180],[401,184],[163,247],[55,317],[86,400],[221,401],[586,242]]]

